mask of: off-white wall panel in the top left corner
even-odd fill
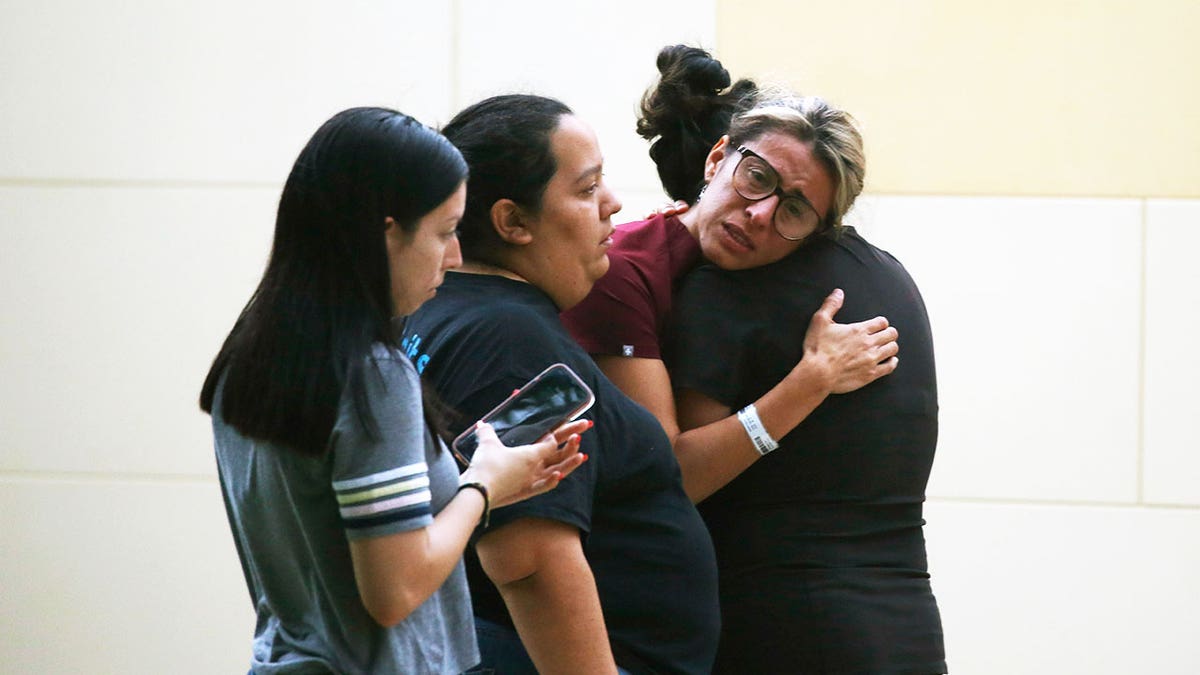
[[[450,6],[373,0],[5,2],[0,179],[282,183],[352,106],[427,119]]]

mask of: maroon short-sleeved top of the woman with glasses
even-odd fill
[[[676,216],[617,226],[608,271],[563,325],[590,354],[661,359],[676,285],[700,262],[700,244]]]

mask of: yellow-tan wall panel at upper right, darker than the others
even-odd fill
[[[1200,196],[1200,2],[718,2],[736,76],[853,112],[868,189]]]

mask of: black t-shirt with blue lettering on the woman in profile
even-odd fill
[[[550,298],[520,281],[448,274],[438,295],[409,317],[403,344],[461,413],[455,434],[553,363],[587,382],[596,398],[584,413],[595,422],[583,435],[588,461],[557,489],[494,510],[491,527],[520,518],[578,527],[618,663],[635,673],[708,673],[720,617],[704,522],[658,420],[571,340]],[[511,626],[474,551],[467,573],[475,614]]]

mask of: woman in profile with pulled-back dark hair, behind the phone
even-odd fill
[[[464,263],[408,319],[410,358],[460,429],[556,362],[596,395],[589,461],[552,495],[494,512],[468,556],[481,667],[708,673],[716,566],[671,443],[558,321],[607,270],[620,209],[595,136],[560,102],[517,95],[464,109],[443,133],[470,169]]]

